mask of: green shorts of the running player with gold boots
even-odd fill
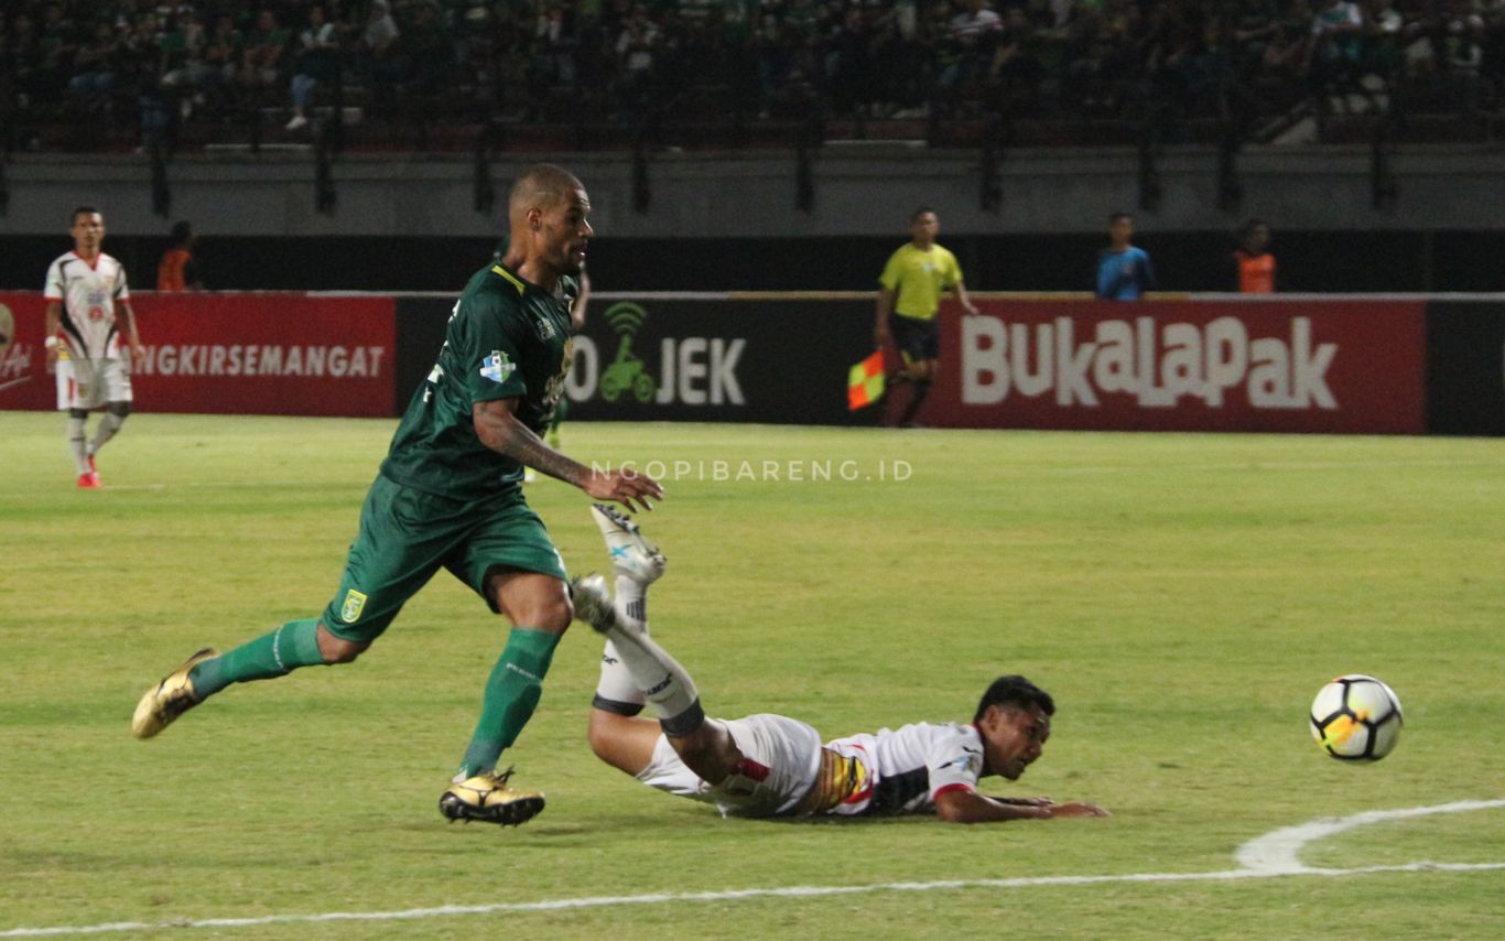
[[[521,488],[467,503],[378,476],[324,625],[342,640],[376,640],[441,568],[482,598],[494,568],[567,578],[564,560]]]

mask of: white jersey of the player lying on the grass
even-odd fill
[[[977,790],[983,774],[983,736],[972,724],[915,723],[831,739],[826,748],[861,765],[828,813],[926,813],[947,790]]]

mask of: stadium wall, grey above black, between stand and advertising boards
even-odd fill
[[[69,247],[68,212],[105,214],[105,247],[149,286],[175,220],[202,238],[206,283],[226,289],[458,291],[497,241],[512,176],[533,155],[488,166],[455,155],[351,154],[331,167],[333,208],[315,200],[312,154],[182,155],[166,166],[167,215],[155,215],[150,166],[126,155],[17,154],[0,205],[0,288],[36,289]],[[1488,146],[1394,155],[1395,199],[1376,205],[1368,148],[1249,148],[1243,200],[1219,205],[1216,149],[1166,146],[1153,206],[1141,206],[1132,148],[1011,149],[998,203],[981,203],[980,154],[892,142],[814,152],[801,200],[793,151],[557,157],[590,188],[599,239],[591,270],[611,291],[870,289],[918,205],[941,214],[941,241],[968,285],[1084,291],[1105,217],[1136,212],[1136,241],[1169,291],[1228,286],[1233,232],[1275,229],[1282,280],[1312,292],[1502,291],[1505,175]]]

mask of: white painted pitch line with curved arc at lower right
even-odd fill
[[[948,891],[959,888],[1032,888],[1049,885],[1105,885],[1111,882],[1209,882],[1230,879],[1270,879],[1279,876],[1362,876],[1382,872],[1485,872],[1505,870],[1505,863],[1407,863],[1404,866],[1364,866],[1358,869],[1317,869],[1300,861],[1300,851],[1314,840],[1367,824],[1400,821],[1436,813],[1463,813],[1505,807],[1505,799],[1457,801],[1433,807],[1374,810],[1348,818],[1326,818],[1299,827],[1285,827],[1239,848],[1240,869],[1222,872],[1147,872],[1100,876],[1019,876],[1013,879],[945,879],[935,882],[877,882],[871,885],[784,885],[777,888],[737,888],[725,891],[655,893],[641,896],[587,896],[542,902],[497,902],[492,905],[439,905],[402,911],[334,911],[310,915],[263,915],[260,918],[197,918],[181,921],[108,921],[59,927],[14,927],[0,938],[50,938],[63,935],[101,935],[110,932],[173,930],[185,927],[257,927],[265,924],[322,924],[330,921],[405,921],[455,915],[495,915],[521,912],[558,912],[665,902],[740,902],[746,899],[819,899],[879,891]]]

